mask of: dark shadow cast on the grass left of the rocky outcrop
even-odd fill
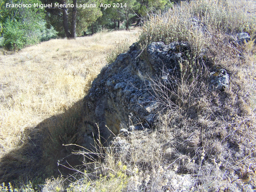
[[[37,185],[60,173],[74,173],[58,166],[58,160],[62,159],[62,164],[64,162],[67,166],[82,164],[79,156],[72,155],[74,146],[62,145],[76,143],[82,106],[83,100],[79,100],[64,113],[28,128],[23,138],[25,141],[0,159],[0,183],[11,182],[19,186],[19,183],[30,180]]]

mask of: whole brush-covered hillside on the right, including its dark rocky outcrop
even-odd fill
[[[85,158],[67,190],[255,190],[256,15],[247,3],[194,0],[150,16],[84,98],[80,138],[96,146],[94,156],[77,153],[94,162]]]

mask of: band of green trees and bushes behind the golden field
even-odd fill
[[[0,47],[20,49],[54,37],[76,39],[104,29],[128,29],[164,9],[167,0],[0,0]],[[32,4],[7,7],[6,4]],[[51,4],[34,7],[33,4]],[[66,5],[66,6],[55,6]],[[73,5],[73,6],[70,6]]]

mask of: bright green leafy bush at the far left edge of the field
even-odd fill
[[[40,3],[39,0],[2,0],[0,9],[0,26],[3,40],[1,45],[8,50],[21,49],[28,44],[39,41],[36,29],[40,28],[39,21],[43,18],[43,10],[38,8],[6,8],[10,4],[33,4]]]

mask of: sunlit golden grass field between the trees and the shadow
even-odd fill
[[[55,39],[0,55],[0,157],[23,143],[23,132],[81,100],[106,65],[111,45],[137,31]]]

